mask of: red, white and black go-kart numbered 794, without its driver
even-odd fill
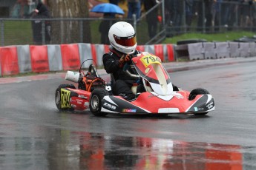
[[[57,108],[90,109],[95,116],[110,113],[206,115],[215,109],[214,98],[206,89],[188,92],[171,84],[168,72],[156,55],[142,52],[131,58],[131,64],[125,64],[124,71],[131,77],[140,79],[140,84],[132,86],[136,96],[133,100],[126,101],[121,96],[113,95],[111,84],[100,78],[91,64],[87,74],[81,72],[81,68],[79,72],[67,72],[66,79],[78,83],[78,89],[71,84],[60,85],[55,95]],[[141,92],[138,92],[138,86],[142,86]]]

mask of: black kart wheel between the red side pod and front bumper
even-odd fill
[[[102,110],[102,99],[105,95],[108,95],[108,91],[105,89],[94,89],[91,92],[91,97],[89,101],[90,111],[93,115],[103,117],[108,115],[106,112],[101,112]]]

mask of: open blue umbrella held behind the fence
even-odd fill
[[[111,3],[102,3],[97,4],[95,7],[91,9],[93,13],[116,13],[116,14],[125,14],[122,8],[115,4]]]

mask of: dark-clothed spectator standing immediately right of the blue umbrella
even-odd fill
[[[136,19],[140,18],[140,0],[127,0],[128,1],[128,18],[133,18],[133,14],[136,15]]]

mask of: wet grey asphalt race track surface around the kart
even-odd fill
[[[57,111],[63,74],[0,78],[0,169],[256,169],[256,58],[166,69],[183,89],[208,89],[216,110],[96,118]]]

